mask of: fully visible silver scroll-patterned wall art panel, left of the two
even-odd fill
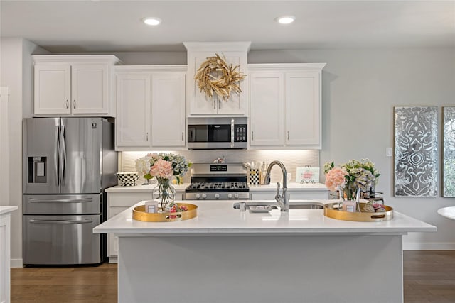
[[[437,106],[395,107],[395,197],[437,197]]]

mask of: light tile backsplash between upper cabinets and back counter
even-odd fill
[[[177,153],[183,155],[186,159],[194,163],[213,162],[216,158],[225,157],[227,163],[243,162],[267,162],[274,160],[282,161],[286,167],[288,177],[291,175],[291,181],[296,180],[296,167],[319,167],[319,150],[178,150],[164,151],[166,153]],[[138,158],[144,157],[147,153],[152,152],[122,152],[119,168],[122,172],[135,172],[135,162]],[[154,151],[153,153],[159,153]],[[185,183],[189,183],[191,176],[189,173],[183,177]],[[278,166],[273,167],[271,182],[279,182],[282,179],[282,172]],[[139,180],[140,182],[141,180]]]

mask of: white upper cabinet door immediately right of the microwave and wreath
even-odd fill
[[[250,74],[250,145],[284,144],[282,72]]]

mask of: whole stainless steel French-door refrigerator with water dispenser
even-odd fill
[[[117,184],[114,125],[103,118],[23,121],[23,264],[98,264],[104,189]]]

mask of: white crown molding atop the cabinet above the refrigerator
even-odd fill
[[[32,55],[32,58],[35,64],[123,64],[122,60],[114,55]]]

